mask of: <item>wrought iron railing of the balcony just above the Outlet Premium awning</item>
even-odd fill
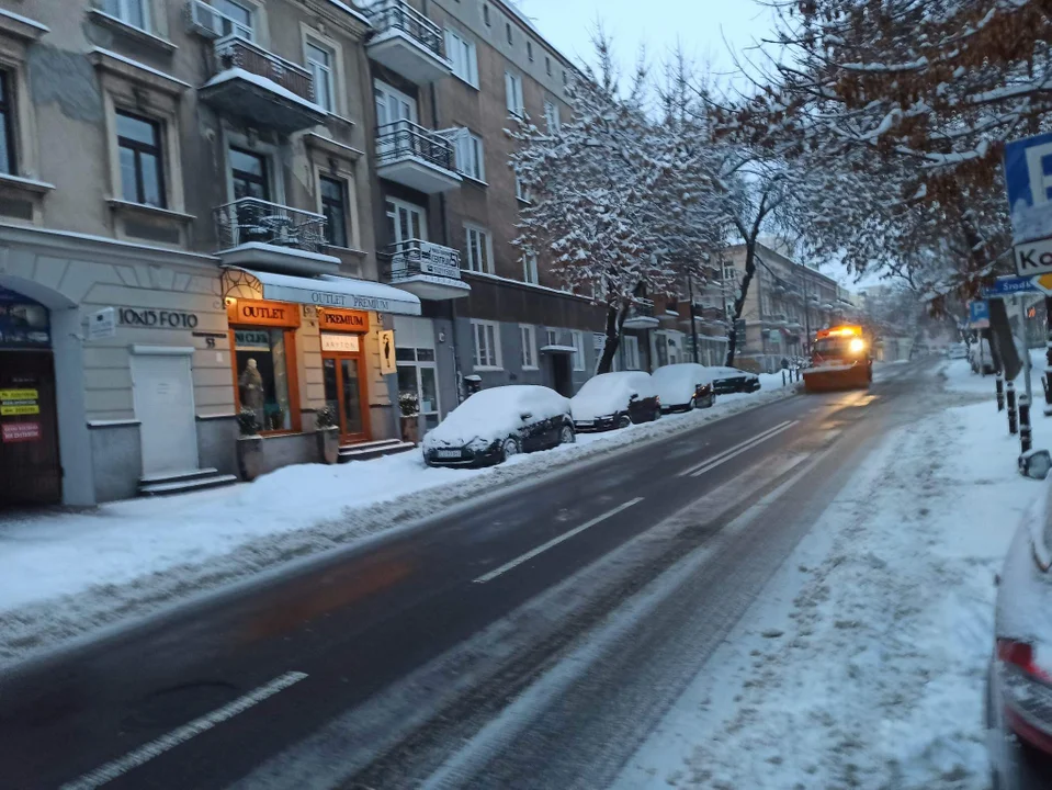
[[[215,210],[220,249],[257,242],[306,252],[325,251],[325,215],[241,198]]]

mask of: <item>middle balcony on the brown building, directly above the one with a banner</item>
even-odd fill
[[[461,185],[453,144],[411,121],[376,129],[376,174],[425,194]]]

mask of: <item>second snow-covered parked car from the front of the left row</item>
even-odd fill
[[[649,373],[622,371],[592,376],[570,399],[578,431],[627,428],[661,416],[661,402]]]

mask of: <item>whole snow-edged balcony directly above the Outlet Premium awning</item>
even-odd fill
[[[340,259],[326,255],[325,216],[241,198],[215,210],[224,266],[285,274],[333,274]]]

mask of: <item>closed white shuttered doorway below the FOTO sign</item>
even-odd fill
[[[134,354],[132,392],[143,443],[143,476],[196,470],[190,354]]]

